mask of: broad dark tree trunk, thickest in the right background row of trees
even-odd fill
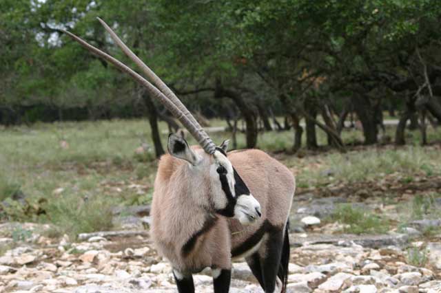
[[[378,129],[371,101],[365,94],[355,94],[353,99],[354,111],[356,111],[363,127],[365,144],[375,144],[378,141]]]

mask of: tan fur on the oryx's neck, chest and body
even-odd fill
[[[200,148],[192,149],[198,155],[209,156]],[[228,158],[260,203],[262,217],[250,226],[242,226],[235,219],[216,215],[216,224],[198,238],[192,254],[183,257],[183,245],[201,230],[207,217],[205,197],[210,191],[204,182],[209,178],[208,174],[194,178],[186,162],[171,155],[161,157],[154,184],[152,237],[158,251],[177,270],[229,269],[231,250],[258,230],[265,219],[273,226],[285,226],[295,190],[291,172],[263,151],[232,152]]]

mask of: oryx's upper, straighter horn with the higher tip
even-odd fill
[[[103,25],[103,27],[105,28],[105,30],[110,34],[110,36],[112,37],[113,41],[116,43],[116,45],[118,45],[121,50],[130,58],[132,59],[132,61],[134,61],[134,63],[136,65],[138,65],[141,70],[144,72],[144,74],[150,78],[150,80],[152,80],[152,82],[154,83],[154,85],[156,85],[158,87],[158,89],[160,91],[163,92],[163,94],[165,94],[165,96],[167,96],[167,98],[170,98],[170,100],[172,100],[172,102],[174,103],[174,105],[176,105],[178,107],[179,110],[181,110],[181,112],[194,124],[194,126],[196,127],[196,130],[201,133],[201,135],[203,136],[203,138],[201,138],[201,140],[198,140],[198,143],[201,144],[201,146],[209,146],[208,149],[205,149],[205,151],[207,151],[207,153],[212,153],[212,149],[216,148],[216,145],[214,144],[214,142],[212,141],[211,138],[209,138],[209,135],[204,131],[204,129],[201,127],[201,125],[197,122],[197,120],[194,118],[194,116],[192,115],[192,113],[190,113],[187,109],[187,107],[185,107],[185,105],[183,105],[183,103],[181,102],[181,100],[179,100],[179,98],[174,94],[174,92],[167,87],[167,85],[165,85],[165,83],[163,82],[163,80],[161,80],[161,78],[159,78],[153,71],[152,69],[150,69],[150,67],[148,67],[147,65],[145,65],[145,63],[143,63],[143,61],[136,56],[136,54],[134,54],[134,52],[132,52],[132,50],[130,50],[129,47],[127,47],[127,45],[125,45],[125,43],[123,43],[123,41],[121,41],[121,39],[119,38],[119,36],[117,36],[115,34],[115,32],[112,30],[112,28],[110,28],[109,25],[107,25],[107,23],[105,23],[105,21],[103,21],[102,19],[100,19],[99,17],[97,17],[96,19],[99,20],[99,22],[101,23],[101,25]]]

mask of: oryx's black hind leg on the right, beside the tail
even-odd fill
[[[258,251],[265,293],[279,293],[282,290],[283,283],[277,275],[282,257],[283,234],[282,229],[271,229],[265,244]]]

